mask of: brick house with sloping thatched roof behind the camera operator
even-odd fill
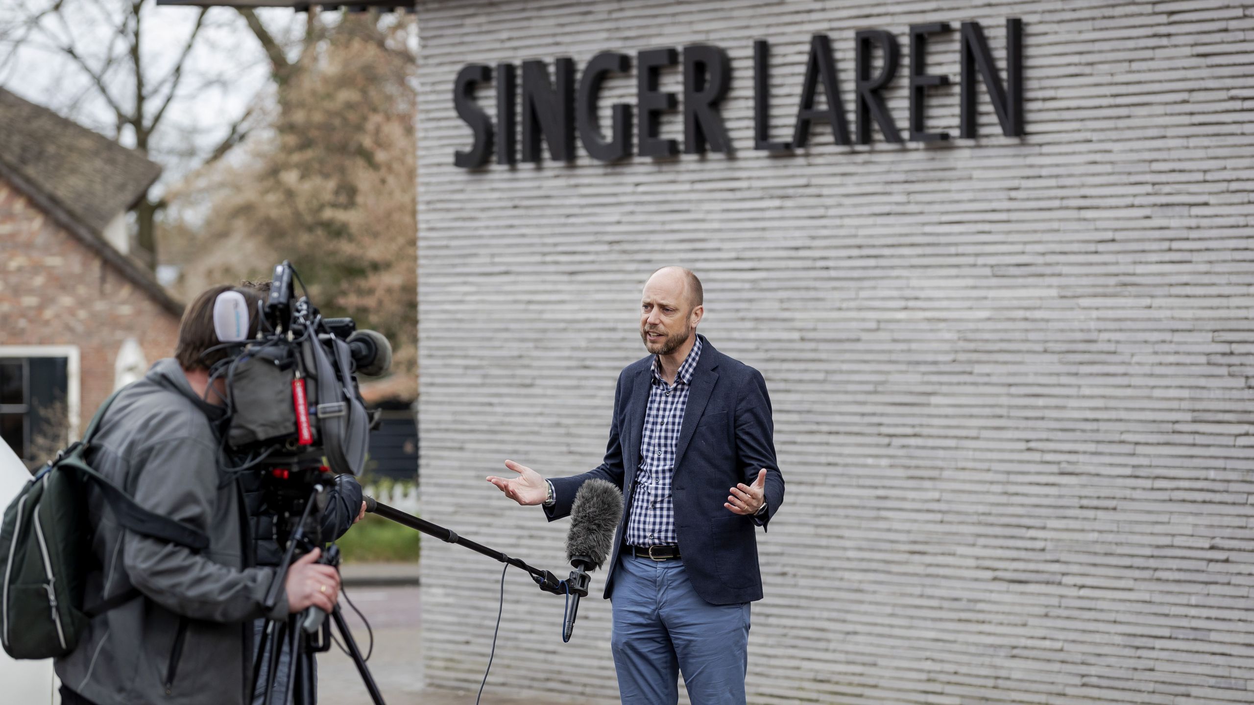
[[[0,89],[0,435],[28,464],[174,349],[182,305],[128,256],[159,173]]]

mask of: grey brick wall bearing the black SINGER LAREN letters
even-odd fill
[[[751,702],[1254,701],[1249,3],[419,5],[426,518],[559,568],[567,524],[483,478],[599,462],[642,355],[638,289],[682,263],[702,332],[766,376],[789,488],[760,542]],[[978,140],[844,148],[820,128],[794,157],[752,149],[754,39],[786,139],[813,33],[851,119],[855,30],[892,30],[904,64],[908,25],[978,20],[1004,70],[1008,16],[1026,138],[981,89]],[[735,157],[453,167],[461,65],[701,41],[732,58]],[[954,80],[929,128],[957,134],[957,33],[928,63]],[[889,108],[904,129],[904,69]],[[677,117],[663,132],[682,138]],[[499,572],[424,546],[428,682],[478,686]],[[514,570],[505,592],[489,689],[617,701],[608,603],[563,645],[561,600]]]

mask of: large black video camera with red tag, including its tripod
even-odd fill
[[[297,282],[303,294],[300,297]],[[234,292],[234,297],[219,300],[214,306],[219,339],[223,330],[246,331],[250,316],[242,310],[243,296]],[[266,506],[276,514],[275,538],[283,557],[265,601],[272,610],[292,559],[322,548],[321,519],[332,473],[359,475],[364,469],[375,419],[366,411],[356,374],[386,371],[391,346],[375,331],[356,330],[352,319],[324,317],[286,261],[275,267],[268,299],[258,302],[253,314],[262,324],[257,337],[227,335],[224,347],[231,354],[211,374],[226,380],[224,442],[234,465],[231,472],[260,474]],[[339,566],[339,557],[332,544],[320,561]],[[277,691],[290,694],[297,705],[314,702],[312,654],[326,651],[331,644],[331,625],[325,617],[311,607],[287,622],[267,626],[253,667],[253,674],[267,674],[267,704],[276,692],[280,652],[292,655],[292,667]],[[381,704],[339,606],[331,617],[371,697]],[[270,664],[263,670],[261,659],[266,654]]]

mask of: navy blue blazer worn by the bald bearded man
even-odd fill
[[[692,375],[675,448],[675,531],[680,554],[692,588],[712,605],[734,605],[762,598],[757,567],[757,542],[751,517],[724,507],[729,488],[750,484],[766,468],[765,528],[784,503],[784,475],[775,460],[771,401],[761,373],[714,349],[701,336],[701,359]],[[623,490],[623,516],[606,577],[606,597],[614,581],[614,565],[631,512],[631,493],[640,467],[640,444],[648,406],[653,356],[632,363],[618,375],[614,415],[609,424],[606,458],[593,470],[554,478],[556,503],[544,509],[549,521],[571,514],[574,494],[584,480],[601,478]]]

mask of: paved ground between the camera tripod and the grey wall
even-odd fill
[[[420,592],[416,585],[394,585],[398,571],[344,571],[346,592],[370,620],[375,633],[374,655],[367,666],[387,705],[474,705],[475,692],[423,690],[419,639]],[[341,605],[344,602],[341,601]],[[369,647],[366,628],[347,606],[345,618],[362,652]],[[325,705],[370,705],[352,660],[331,647],[319,664],[319,702]],[[497,686],[499,689],[499,686]],[[504,697],[488,690],[480,705],[533,705],[529,700]]]

